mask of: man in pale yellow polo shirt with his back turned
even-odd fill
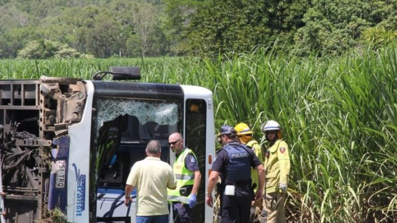
[[[146,158],[136,162],[125,185],[124,204],[132,202],[130,196],[137,188],[136,222],[168,223],[167,188],[175,189],[176,180],[170,164],[160,160],[161,145],[151,140],[146,146]]]

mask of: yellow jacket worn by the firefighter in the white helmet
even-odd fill
[[[285,141],[277,139],[269,148],[269,157],[265,160],[266,171],[266,194],[272,192],[281,192],[278,188],[280,183],[287,184],[290,161],[288,145]]]

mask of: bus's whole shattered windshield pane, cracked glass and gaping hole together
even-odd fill
[[[166,142],[171,133],[178,131],[181,106],[181,102],[175,101],[99,97],[95,123],[96,177],[106,178],[106,171],[117,157],[116,151],[123,150],[123,146],[129,145],[127,151],[134,154],[134,158],[143,159],[145,149],[137,148],[145,148],[151,139]],[[113,183],[123,180],[118,174],[121,173],[112,175]]]

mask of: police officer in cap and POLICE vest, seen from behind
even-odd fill
[[[209,177],[206,203],[212,207],[212,191],[218,177],[221,178],[222,223],[247,223],[251,201],[262,199],[264,185],[264,168],[252,149],[237,141],[237,132],[231,126],[220,129],[222,149],[217,152]],[[255,193],[251,188],[251,167],[259,174],[259,186]]]

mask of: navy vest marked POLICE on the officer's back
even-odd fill
[[[245,148],[244,148],[245,147]],[[251,179],[251,162],[248,148],[245,145],[224,146],[229,156],[229,165],[226,168],[226,179],[230,181],[242,181]]]

